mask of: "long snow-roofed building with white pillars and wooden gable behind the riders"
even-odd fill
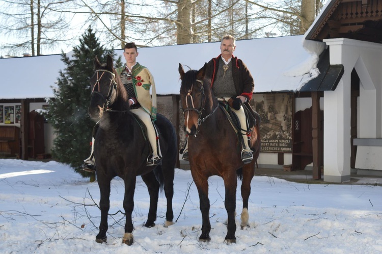
[[[263,119],[259,167],[282,169],[290,165],[291,170],[313,170],[315,179],[323,176],[326,182],[346,182],[351,172],[382,174],[380,15],[380,1],[332,0],[303,36],[236,42],[234,54],[247,64],[255,79],[251,104]],[[198,69],[220,54],[219,47],[220,42],[213,42],[139,49],[137,61],[149,67],[155,78],[158,111],[176,126],[181,143],[184,134],[178,64]],[[122,55],[122,50],[117,53]],[[41,66],[44,62],[54,68],[42,72],[48,68]],[[25,92],[27,81],[20,77],[16,77],[16,84],[14,80],[6,81],[6,86],[14,86],[15,90],[12,94],[0,94],[0,115],[5,118],[6,107],[13,106],[17,119],[16,107],[21,107],[21,122],[29,116],[25,123],[31,126],[36,114],[30,112],[42,109],[45,98],[52,96],[50,86],[54,86],[58,71],[64,66],[58,55],[0,59],[2,77],[20,65],[40,67],[35,70],[36,77],[23,75],[33,81],[35,89]],[[0,119],[0,130],[11,125],[21,130],[21,147],[27,146],[20,153],[35,156],[37,153],[32,150],[41,147],[30,148],[29,137],[34,135],[31,128]],[[53,131],[48,123],[43,126],[46,154]],[[13,135],[12,139],[17,137]]]

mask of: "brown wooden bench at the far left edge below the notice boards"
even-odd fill
[[[20,150],[20,128],[0,125],[0,153],[15,156]]]

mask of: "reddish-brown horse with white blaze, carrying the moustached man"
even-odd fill
[[[251,181],[255,173],[255,162],[260,153],[259,117],[251,131],[251,144],[254,159],[249,164],[241,161],[241,146],[224,109],[213,95],[210,80],[206,79],[206,64],[199,71],[186,73],[179,64],[182,81],[180,98],[184,111],[184,131],[188,134],[188,156],[193,179],[198,188],[200,210],[202,212],[202,234],[200,241],[209,241],[211,224],[209,221],[210,202],[208,199],[208,177],[223,177],[226,189],[225,207],[228,214],[227,243],[236,242],[235,209],[237,178],[242,178],[241,228],[249,226],[248,199],[251,193]],[[257,114],[256,114],[257,115]],[[258,116],[258,115],[257,115]],[[246,141],[244,141],[246,142]]]

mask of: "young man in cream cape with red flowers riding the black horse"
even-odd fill
[[[161,153],[159,147],[158,133],[153,121],[156,120],[156,90],[154,78],[148,68],[137,63],[138,48],[134,42],[125,44],[123,56],[126,63],[116,69],[120,75],[122,84],[126,88],[129,96],[129,106],[131,112],[139,117],[146,125],[147,136],[153,153],[147,158],[147,165],[161,165]],[[152,96],[150,96],[150,88]],[[94,136],[94,135],[93,135]],[[88,172],[95,172],[95,161],[92,154],[85,160],[83,169]]]

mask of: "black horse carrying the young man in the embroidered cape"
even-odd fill
[[[94,157],[97,166],[97,179],[100,190],[101,222],[97,242],[106,242],[107,213],[110,209],[110,182],[119,176],[125,183],[123,208],[126,223],[123,243],[133,242],[131,213],[134,208],[136,176],[141,175],[150,195],[150,208],[145,226],[154,226],[158,204],[159,188],[163,187],[167,198],[165,226],[171,225],[174,218],[172,198],[174,194],[174,167],[178,156],[177,141],[172,123],[162,115],[157,115],[155,124],[159,129],[159,142],[162,152],[161,166],[146,166],[149,151],[142,124],[131,113],[127,92],[119,75],[113,68],[113,59],[107,56],[105,65],[94,60],[95,73],[90,79],[92,88],[88,113],[93,120],[99,120],[95,134]]]

